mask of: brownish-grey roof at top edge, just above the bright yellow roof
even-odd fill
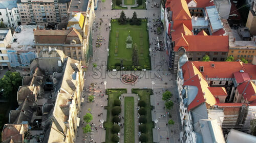
[[[89,0],[71,0],[68,12],[86,12]]]

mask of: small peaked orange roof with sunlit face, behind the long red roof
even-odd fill
[[[184,23],[181,23],[174,32],[171,33],[172,35],[172,40],[173,41],[176,41],[176,40],[179,40],[182,35],[194,35],[193,32],[191,32],[187,26],[184,24]]]

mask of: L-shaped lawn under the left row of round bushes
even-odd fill
[[[104,123],[104,127],[106,128],[106,138],[105,141],[106,143],[112,143],[113,141],[111,141],[111,137],[112,137],[112,133],[111,133],[111,128],[114,125],[112,123],[112,119],[113,116],[111,114],[111,110],[114,104],[114,100],[118,99],[119,96],[122,93],[127,93],[126,89],[107,89],[106,94],[109,95],[109,99],[108,99],[108,111],[107,111],[107,116],[106,116],[106,122]]]

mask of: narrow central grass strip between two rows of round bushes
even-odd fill
[[[134,97],[124,97],[124,143],[134,143]]]

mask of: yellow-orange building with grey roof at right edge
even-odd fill
[[[256,55],[256,44],[254,41],[234,41],[229,42],[228,56],[233,56],[234,61],[244,58],[248,63],[252,62]]]

